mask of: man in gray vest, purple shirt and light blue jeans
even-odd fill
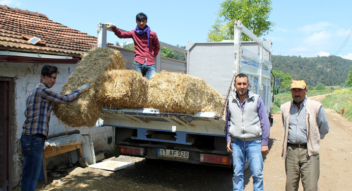
[[[263,100],[252,93],[247,75],[235,77],[236,91],[229,97],[226,107],[227,149],[232,153],[234,175],[233,190],[244,189],[246,158],[253,178],[253,190],[264,190],[263,156],[269,153],[270,123]]]

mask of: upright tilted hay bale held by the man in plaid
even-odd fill
[[[125,69],[119,51],[111,48],[94,48],[88,51],[63,86],[61,94],[68,94],[84,84],[89,84],[90,90],[74,102],[55,104],[53,112],[56,117],[71,127],[94,126],[103,108],[96,92],[102,86],[101,79],[105,72],[112,69]]]

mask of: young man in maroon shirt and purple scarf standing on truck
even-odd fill
[[[133,68],[141,72],[148,80],[155,73],[154,58],[160,50],[160,43],[154,31],[147,25],[148,17],[144,13],[136,16],[136,29],[131,31],[121,31],[113,23],[105,23],[107,29],[113,31],[120,39],[133,39],[135,44],[135,61]]]

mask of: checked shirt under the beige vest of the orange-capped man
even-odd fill
[[[306,100],[305,98],[300,104],[300,110],[295,104],[291,105],[290,109],[290,124],[289,124],[289,142],[292,144],[307,143],[307,126],[306,126]],[[317,124],[321,139],[329,132],[328,119],[325,110],[320,107]]]

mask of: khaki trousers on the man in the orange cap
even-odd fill
[[[286,191],[298,190],[300,179],[304,190],[318,190],[319,154],[308,156],[307,148],[287,146],[285,160]]]

